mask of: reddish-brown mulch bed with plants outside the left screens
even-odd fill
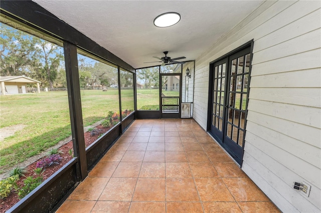
[[[105,133],[109,129],[110,127],[103,127],[102,125],[97,125],[93,130],[94,132],[93,131],[84,132],[86,147],[89,146],[91,143],[93,143],[96,139],[98,139],[101,133]],[[44,172],[42,173],[42,176],[44,177],[43,180],[50,177],[53,173],[59,170],[59,168],[61,168],[69,160],[72,159],[72,156],[69,153],[69,149],[73,149],[72,140],[60,146],[58,150],[61,151],[60,156],[62,157],[62,160],[59,162],[59,164],[54,163],[52,166],[45,168]],[[17,181],[17,184],[20,186],[23,185],[24,180],[28,176],[37,177],[38,175],[34,172],[34,169],[36,168],[37,162],[44,158],[46,158],[46,156],[28,165],[26,167],[26,172],[24,173],[25,176],[20,177],[20,179]],[[18,193],[16,193],[16,191],[13,190],[9,196],[5,197],[4,199],[0,199],[0,213],[6,212],[9,208],[15,205],[19,200],[20,199],[18,197]]]

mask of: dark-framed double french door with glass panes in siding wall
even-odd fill
[[[251,46],[210,64],[209,132],[241,165],[250,84]]]

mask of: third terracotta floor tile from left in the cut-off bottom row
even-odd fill
[[[129,213],[163,213],[166,212],[166,202],[131,202]]]

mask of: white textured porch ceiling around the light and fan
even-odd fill
[[[152,56],[194,60],[239,23],[262,0],[34,0],[134,68],[159,65]],[[159,28],[164,12],[181,14]],[[157,59],[156,59],[157,60]]]

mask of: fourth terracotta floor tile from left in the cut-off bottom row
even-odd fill
[[[194,212],[203,213],[201,202],[167,202],[167,213]]]

